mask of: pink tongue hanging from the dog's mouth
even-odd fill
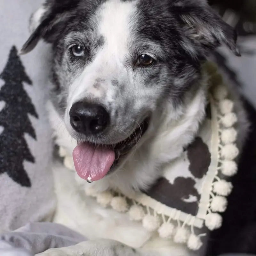
[[[73,160],[76,172],[81,178],[95,181],[108,173],[115,161],[115,152],[100,146],[94,148],[83,142],[73,150]]]

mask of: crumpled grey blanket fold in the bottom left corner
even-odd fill
[[[37,222],[27,224],[0,236],[1,256],[30,256],[49,248],[66,247],[85,241],[85,238],[56,223]]]

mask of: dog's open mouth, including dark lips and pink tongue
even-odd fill
[[[93,144],[78,141],[77,147],[73,151],[77,174],[84,180],[92,182],[113,172],[120,159],[128,155],[147,131],[149,119],[149,117],[145,118],[130,136],[116,144]]]

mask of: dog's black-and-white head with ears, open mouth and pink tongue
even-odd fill
[[[236,52],[236,33],[203,0],[48,0],[34,16],[22,51],[52,43],[55,99],[89,180],[126,160],[166,102],[175,116],[210,51]]]

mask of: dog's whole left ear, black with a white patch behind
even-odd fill
[[[20,54],[32,51],[42,38],[52,43],[65,28],[64,23],[72,15],[72,11],[80,0],[47,0],[46,3],[30,19],[30,31],[26,43],[22,46]]]

